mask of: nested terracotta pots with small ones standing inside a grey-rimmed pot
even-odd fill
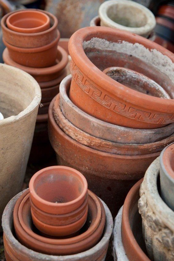
[[[30,180],[7,204],[3,240],[7,261],[104,261],[113,230],[106,204],[75,169],[53,166]]]

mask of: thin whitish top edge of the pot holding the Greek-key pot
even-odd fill
[[[87,114],[86,112],[84,112],[83,110],[81,110],[80,108],[78,108],[75,104],[73,104],[73,102],[69,99],[68,95],[67,95],[67,84],[69,85],[69,88],[70,88],[70,83],[71,83],[71,80],[72,80],[72,75],[69,74],[67,75],[60,83],[60,87],[59,87],[59,94],[60,94],[60,99],[61,97],[63,96],[63,99],[65,100],[65,102],[67,104],[69,104],[69,106],[71,106],[73,108],[73,110],[75,110],[77,113],[79,114],[82,114],[82,116],[84,118],[89,118],[92,122],[95,122],[97,121],[100,126],[103,126],[105,128],[115,128],[116,125],[112,124],[112,123],[109,123],[109,122],[104,122],[100,119],[97,119],[89,114]],[[78,110],[78,111],[77,111]],[[161,127],[161,128],[156,128],[156,129],[132,129],[132,128],[128,128],[128,127],[123,127],[123,126],[119,126],[119,129],[121,131],[126,131],[126,132],[129,132],[130,130],[136,130],[137,132],[142,132],[144,131],[145,133],[151,135],[151,134],[154,134],[155,133],[158,133],[159,132],[159,129],[160,130],[163,130],[163,131],[166,131],[168,128],[174,128],[174,122],[173,123],[170,123],[168,124],[167,126],[164,126],[164,127]]]

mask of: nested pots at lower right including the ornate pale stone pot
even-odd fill
[[[114,223],[114,260],[173,260],[173,159],[174,143],[164,148],[144,179],[129,191]]]

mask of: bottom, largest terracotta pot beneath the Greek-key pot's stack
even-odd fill
[[[81,145],[57,126],[53,117],[54,101],[55,98],[49,106],[48,133],[50,143],[57,154],[58,165],[80,171],[87,179],[89,189],[104,199],[113,216],[116,216],[129,189],[136,180],[144,176],[147,167],[160,153],[124,156]]]

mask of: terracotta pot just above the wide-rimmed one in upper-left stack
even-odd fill
[[[10,45],[4,39],[3,42],[8,49],[10,58],[14,62],[27,67],[44,68],[55,65],[59,38],[60,33],[57,33],[57,37],[53,42],[36,48],[16,47]]]

